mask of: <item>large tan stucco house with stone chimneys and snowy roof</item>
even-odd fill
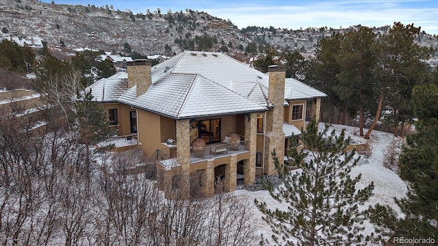
[[[175,189],[176,174],[189,186],[196,174],[201,179],[192,185],[205,195],[214,194],[218,177],[233,191],[237,178],[251,184],[256,175],[275,174],[270,153],[283,159],[305,128],[306,112],[318,119],[326,96],[286,79],[285,66],[264,74],[223,53],[198,51],[153,67],[149,60],[128,62],[127,72],[86,90],[107,108],[118,135],[136,137],[166,189]]]

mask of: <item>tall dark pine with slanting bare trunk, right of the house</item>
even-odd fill
[[[378,106],[374,122],[365,133],[365,139],[380,120],[383,102],[388,101],[389,107],[393,109],[394,124],[404,124],[413,118],[411,90],[414,85],[424,83],[427,66],[424,66],[425,59],[430,55],[430,49],[415,44],[415,36],[420,33],[420,27],[394,23],[388,33],[381,36],[375,46],[374,54],[377,58],[376,79],[374,90],[376,90]]]

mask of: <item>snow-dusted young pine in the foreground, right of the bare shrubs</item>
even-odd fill
[[[255,204],[270,224],[276,245],[282,241],[285,245],[294,245],[294,241],[298,245],[352,245],[370,239],[361,234],[365,213],[359,205],[372,195],[374,184],[356,189],[361,175],[351,178],[349,174],[359,158],[354,159],[354,150],[346,151],[350,139],[344,131],[339,136],[327,131],[328,126],[319,133],[315,121],[307,126],[300,140],[309,152],[291,148],[288,154],[293,165],[300,167],[296,172],[280,165],[272,153],[284,187],[274,189],[267,181],[266,188],[275,200],[287,203],[287,210],[272,210],[257,200]]]

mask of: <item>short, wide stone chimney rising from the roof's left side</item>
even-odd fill
[[[137,85],[137,96],[144,94],[152,84],[151,65],[149,59],[127,61],[128,87]]]

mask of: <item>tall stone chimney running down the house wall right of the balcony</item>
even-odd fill
[[[271,152],[275,150],[279,161],[283,161],[285,150],[285,134],[283,133],[285,77],[286,66],[272,65],[268,67],[269,90],[268,98],[274,107],[266,112],[265,136],[265,174],[276,174]]]

